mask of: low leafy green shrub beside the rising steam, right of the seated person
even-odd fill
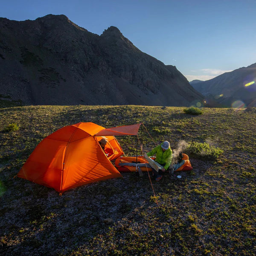
[[[207,160],[216,160],[223,153],[221,148],[215,148],[214,146],[210,146],[208,143],[198,142],[189,143],[186,151],[188,151],[188,153],[193,157]]]

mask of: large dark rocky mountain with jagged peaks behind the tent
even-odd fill
[[[35,105],[189,106],[204,98],[116,27],[88,32],[65,15],[0,18],[0,94]]]

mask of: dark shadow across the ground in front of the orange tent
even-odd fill
[[[20,248],[23,255],[30,255],[40,247],[44,247],[47,255],[56,255],[65,247],[71,251],[90,244],[94,237],[107,233],[151,195],[146,179],[137,183],[134,180],[137,177],[131,173],[124,178],[74,188],[62,196],[51,188],[18,177],[8,180],[6,193],[0,198],[1,255],[10,255]],[[15,194],[12,187],[16,187]],[[106,224],[107,218],[113,222]],[[11,223],[14,226],[10,229]]]

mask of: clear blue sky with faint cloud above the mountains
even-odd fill
[[[116,26],[141,51],[189,81],[256,63],[256,0],[5,0],[0,17],[64,14],[101,35]]]

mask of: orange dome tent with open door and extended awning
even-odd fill
[[[111,163],[124,154],[114,136],[136,135],[141,124],[105,129],[92,122],[65,126],[41,141],[17,174],[58,192],[114,177],[122,177]],[[99,145],[102,137],[113,150],[107,157]]]

